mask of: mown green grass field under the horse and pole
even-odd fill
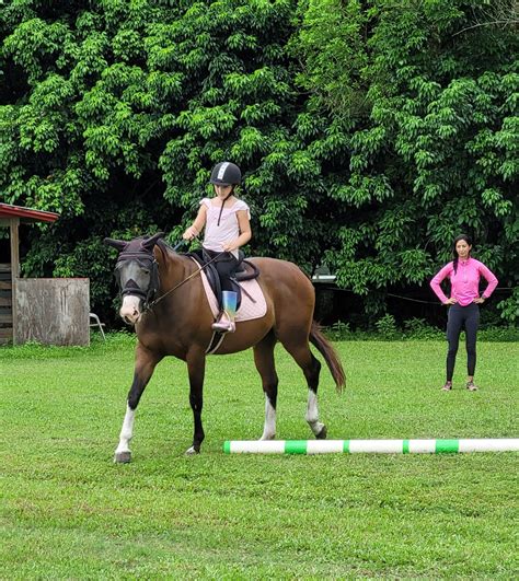
[[[518,344],[481,342],[477,383],[439,391],[441,341],[337,344],[323,368],[328,438],[518,437]],[[277,351],[279,439],[308,439],[307,390]],[[1,579],[518,577],[518,455],[224,455],[262,433],[252,352],[210,358],[203,453],[182,362],[141,400],[134,461],[113,451],[132,375],[128,338],[0,349]]]

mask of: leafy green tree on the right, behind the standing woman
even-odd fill
[[[503,314],[519,316],[518,40],[504,16],[514,5],[304,4],[299,82],[328,127],[341,116],[349,128],[348,163],[326,176],[342,223],[326,256],[344,287],[424,284],[468,232],[501,286],[516,287]]]

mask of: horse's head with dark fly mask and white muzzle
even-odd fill
[[[159,265],[153,247],[163,235],[163,232],[159,232],[130,242],[104,239],[105,244],[119,251],[115,278],[123,297],[119,314],[128,325],[137,323],[159,290]]]

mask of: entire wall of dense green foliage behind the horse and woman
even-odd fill
[[[194,217],[245,172],[250,252],[326,263],[380,317],[461,231],[516,288],[515,2],[101,0],[0,4],[0,196],[61,213],[24,271],[114,295],[105,235]],[[298,244],[295,244],[295,241]],[[427,291],[426,291],[427,292]],[[503,295],[501,295],[503,298]]]

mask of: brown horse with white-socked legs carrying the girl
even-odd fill
[[[214,315],[197,274],[199,267],[187,256],[173,252],[160,241],[162,233],[131,242],[105,239],[119,251],[116,278],[123,297],[120,316],[135,325],[138,337],[134,382],[128,393],[115,462],[131,458],[129,442],[135,412],[157,363],[165,356],[174,356],[187,363],[195,430],[193,445],[186,453],[198,453],[204,441],[204,373],[206,350],[214,333]],[[321,363],[312,355],[309,340],[324,357],[339,392],[345,375],[333,347],[313,321],[313,286],[292,263],[275,258],[252,258],[251,262],[260,269],[258,282],[265,294],[267,312],[262,318],[239,322],[235,333],[226,336],[216,353],[234,353],[253,347],[266,399],[262,440],[272,440],[276,434],[278,387],[274,346],[279,340],[307,379],[305,419],[315,438],[326,438],[326,427],[319,421],[316,403]]]

